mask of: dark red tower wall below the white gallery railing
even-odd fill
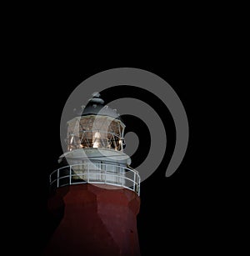
[[[140,198],[127,188],[77,184],[57,188],[50,210],[64,204],[61,223],[45,255],[140,255],[137,214]]]

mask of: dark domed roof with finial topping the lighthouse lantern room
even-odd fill
[[[121,120],[120,115],[114,109],[104,105],[104,100],[100,96],[100,93],[92,93],[92,98],[88,100],[87,106],[83,108],[82,116],[94,114]]]

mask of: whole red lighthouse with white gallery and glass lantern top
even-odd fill
[[[140,255],[140,177],[123,153],[124,128],[99,93],[67,122],[67,153],[50,174],[48,200],[62,218],[45,255]]]

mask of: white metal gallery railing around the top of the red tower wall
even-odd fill
[[[100,183],[128,188],[138,195],[140,181],[138,172],[133,168],[93,161],[57,168],[49,175],[51,188],[80,183]]]

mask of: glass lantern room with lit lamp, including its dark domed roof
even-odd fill
[[[108,148],[122,151],[124,128],[117,111],[104,105],[100,93],[93,93],[82,114],[67,122],[67,150]]]

